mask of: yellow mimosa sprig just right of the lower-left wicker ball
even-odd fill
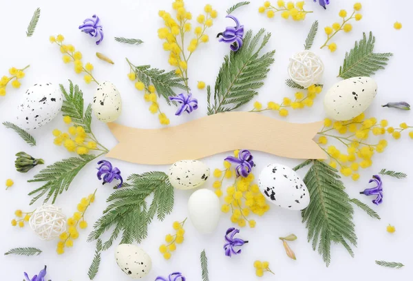
[[[87,208],[94,202],[96,190],[93,194],[82,198],[81,202],[77,205],[77,211],[73,214],[72,218],[67,219],[67,227],[69,227],[68,231],[61,233],[59,236],[60,241],[57,243],[56,252],[59,253],[59,255],[65,252],[65,247],[73,247],[73,240],[76,240],[79,237],[77,227],[80,229],[85,229],[87,227],[85,213]]]

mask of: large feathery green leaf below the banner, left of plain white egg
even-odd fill
[[[127,181],[107,198],[109,206],[95,222],[94,231],[87,238],[88,242],[101,238],[113,227],[109,240],[103,243],[103,250],[109,249],[120,233],[121,244],[140,243],[147,237],[147,228],[153,217],[157,215],[158,220],[162,221],[173,209],[173,187],[164,172],[132,174]],[[148,209],[145,200],[151,194],[153,198]]]

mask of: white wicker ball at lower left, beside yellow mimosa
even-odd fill
[[[45,204],[34,211],[29,224],[41,240],[52,240],[66,231],[66,216],[60,208]]]

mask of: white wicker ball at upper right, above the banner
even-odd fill
[[[310,51],[302,51],[290,59],[288,74],[297,84],[307,88],[317,84],[324,72],[324,63],[317,54]]]

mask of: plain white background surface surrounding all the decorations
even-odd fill
[[[82,76],[74,73],[72,65],[63,63],[59,48],[49,43],[50,35],[61,33],[65,35],[66,43],[72,43],[83,52],[83,61],[94,63],[96,79],[112,81],[122,93],[123,114],[118,119],[118,123],[140,128],[160,127],[157,116],[151,115],[148,111],[149,104],[143,101],[142,94],[136,91],[134,84],[127,79],[129,68],[125,57],[128,57],[136,65],[151,64],[153,67],[171,70],[167,63],[168,53],[162,50],[162,41],[157,37],[157,30],[162,27],[158,10],[171,12],[170,0],[24,0],[2,2],[0,75],[7,74],[8,68],[12,66],[31,65],[26,70],[26,77],[22,80],[21,89],[14,90],[9,86],[7,96],[1,97],[2,122],[15,120],[17,104],[21,96],[30,85],[41,81],[63,83],[67,86],[67,79],[72,79],[83,90],[85,101],[89,103],[92,100],[95,85],[86,85]],[[361,39],[362,32],[372,30],[377,37],[375,51],[393,52],[394,57],[390,60],[386,70],[380,71],[374,76],[379,84],[379,94],[366,114],[376,116],[379,119],[388,118],[390,123],[395,126],[403,121],[413,123],[410,112],[385,109],[380,106],[390,101],[413,103],[409,85],[413,63],[412,40],[410,38],[412,34],[410,17],[413,5],[410,1],[363,0],[362,21],[353,22],[354,30],[352,32],[337,34],[334,41],[337,42],[338,50],[333,54],[326,49],[319,50],[319,46],[326,39],[324,26],[339,21],[339,10],[352,10],[354,1],[332,0],[328,10],[324,10],[317,3],[306,0],[307,10],[315,12],[309,14],[307,19],[301,22],[286,21],[281,19],[279,14],[274,19],[268,19],[257,12],[263,1],[253,0],[252,2],[250,6],[237,10],[236,17],[245,25],[246,30],[251,28],[256,32],[260,28],[266,28],[271,32],[273,36],[266,50],[277,50],[275,63],[271,67],[265,86],[260,90],[260,96],[258,96],[260,101],[263,103],[267,101],[279,102],[284,96],[293,97],[294,91],[284,85],[284,80],[287,78],[288,58],[303,49],[310,25],[315,19],[318,19],[320,31],[315,39],[313,50],[321,56],[326,65],[323,81],[325,88],[328,89],[333,83],[339,81],[336,76],[345,52],[352,48],[354,41]],[[165,101],[161,101],[162,110],[171,118],[171,125],[206,115],[206,91],[196,89],[196,83],[202,80],[213,85],[222,58],[224,54],[229,52],[229,46],[218,43],[214,37],[227,25],[233,24],[230,20],[224,19],[224,15],[225,10],[235,1],[210,0],[209,3],[218,10],[219,17],[214,21],[213,27],[208,30],[211,41],[207,45],[202,45],[194,53],[189,63],[189,83],[193,94],[199,100],[200,107],[191,116],[176,117],[173,115],[176,108],[168,107]],[[186,1],[186,7],[193,13],[194,18],[203,10],[204,4],[206,4],[205,1]],[[41,8],[41,19],[34,36],[27,38],[25,30],[37,7]],[[105,40],[99,46],[95,45],[93,39],[78,30],[78,25],[82,23],[83,19],[91,17],[95,13],[102,20],[105,31]],[[394,21],[401,21],[403,29],[394,30]],[[193,25],[195,25],[195,20],[193,20]],[[123,45],[114,41],[114,37],[138,38],[145,43],[140,46]],[[99,61],[94,55],[96,51],[107,54],[116,64],[108,65]],[[301,123],[322,120],[324,118],[322,97],[325,93],[326,91],[317,98],[313,108],[290,112],[290,116],[286,120]],[[246,105],[243,110],[251,108],[252,103]],[[266,114],[279,118],[277,114],[272,112]],[[80,236],[75,241],[74,247],[67,249],[63,256],[58,256],[55,252],[57,241],[41,241],[36,238],[28,226],[19,229],[19,227],[10,225],[10,220],[14,218],[15,209],[28,211],[41,205],[41,200],[39,200],[34,206],[29,207],[30,197],[27,194],[40,185],[26,183],[26,180],[32,178],[41,167],[36,167],[28,174],[19,174],[14,170],[14,154],[25,151],[32,156],[44,158],[47,164],[74,156],[66,152],[63,147],[53,145],[52,129],[54,128],[67,129],[60,115],[50,124],[32,132],[38,145],[29,147],[12,130],[0,126],[0,183],[4,185],[7,178],[14,180],[14,186],[8,191],[0,190],[0,252],[14,247],[39,247],[43,250],[42,255],[38,257],[0,256],[3,280],[21,280],[23,271],[34,275],[44,264],[47,264],[47,278],[54,281],[88,280],[87,269],[92,261],[95,245],[87,243],[86,238],[89,231],[92,230],[93,222],[100,217],[103,209],[107,206],[105,200],[112,192],[109,185],[102,187],[100,182],[96,180],[96,161],[78,174],[69,191],[59,196],[56,202],[56,205],[61,207],[67,216],[72,216],[73,212],[76,211],[78,201],[98,188],[96,202],[86,215],[89,227],[80,231]],[[116,140],[103,123],[94,119],[93,130],[100,142],[109,148],[114,147]],[[226,136],[218,137],[225,138]],[[260,136],[250,136],[246,130],[246,137]],[[330,267],[326,268],[321,256],[311,249],[311,245],[306,240],[307,231],[301,223],[299,212],[272,207],[271,211],[264,217],[257,218],[255,229],[241,230],[240,238],[250,240],[250,243],[243,247],[241,256],[235,256],[231,259],[224,256],[222,249],[224,233],[232,224],[229,216],[223,214],[217,231],[211,236],[200,235],[192,227],[191,222],[188,222],[185,225],[187,232],[184,244],[178,245],[171,260],[165,261],[158,252],[158,247],[162,244],[165,235],[173,231],[173,221],[183,220],[188,215],[187,200],[191,191],[176,191],[173,214],[167,216],[162,223],[154,220],[149,227],[149,237],[140,245],[149,253],[153,262],[152,271],[145,280],[154,280],[157,275],[167,276],[173,271],[181,271],[189,281],[201,280],[199,257],[202,249],[207,251],[209,277],[212,281],[260,279],[255,276],[253,268],[253,262],[257,259],[268,260],[271,269],[275,272],[275,276],[266,273],[264,278],[260,280],[389,280],[390,278],[392,280],[410,280],[413,274],[411,242],[413,189],[411,181],[384,178],[385,197],[383,204],[379,207],[372,205],[372,198],[359,195],[359,191],[366,187],[370,176],[382,168],[412,174],[412,150],[410,148],[412,140],[408,138],[407,134],[404,134],[399,141],[389,138],[389,143],[389,148],[384,154],[374,156],[372,167],[362,171],[361,178],[357,183],[348,178],[344,179],[350,196],[366,202],[377,210],[382,218],[380,221],[373,220],[363,211],[356,209],[354,223],[359,240],[358,247],[354,248],[355,258],[351,258],[343,247],[332,245],[332,262]],[[256,175],[262,167],[269,163],[284,163],[290,167],[299,163],[299,160],[279,158],[260,152],[253,154],[257,163]],[[215,167],[222,167],[222,160],[225,156],[226,154],[220,154],[203,161],[213,170]],[[132,173],[167,170],[166,166],[149,167],[118,160],[112,160],[112,163],[120,168],[125,177]],[[304,176],[304,172],[300,171],[301,176]],[[211,178],[204,187],[211,188],[212,180]],[[396,226],[396,233],[390,234],[385,231],[389,223]],[[295,233],[299,238],[295,242],[290,242],[290,247],[297,255],[297,261],[286,257],[282,242],[278,240],[279,236],[286,236],[289,233]],[[112,247],[103,253],[96,280],[129,280],[116,265],[114,249],[115,247]],[[374,264],[374,260],[403,262],[406,267],[399,271],[381,268]]]

